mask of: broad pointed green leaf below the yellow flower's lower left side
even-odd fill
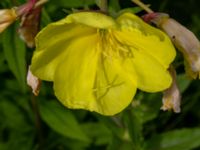
[[[40,114],[49,127],[63,136],[89,141],[71,111],[58,102],[53,100],[41,101]]]

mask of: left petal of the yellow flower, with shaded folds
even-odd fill
[[[48,25],[36,37],[31,71],[40,79],[52,81],[58,64],[67,53],[68,45],[76,39],[96,32],[86,26],[61,22]]]

